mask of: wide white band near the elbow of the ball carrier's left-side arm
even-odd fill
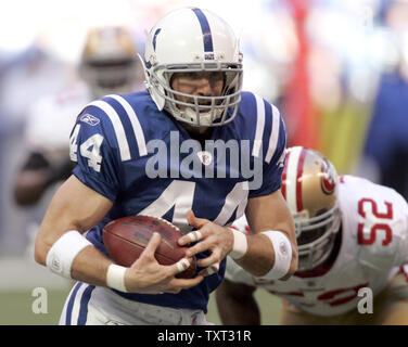
[[[69,230],[52,245],[47,254],[47,267],[54,273],[72,279],[71,267],[85,247],[92,245],[78,231]]]

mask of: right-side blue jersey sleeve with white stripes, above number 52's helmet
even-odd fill
[[[269,195],[282,185],[282,171],[285,159],[286,130],[284,121],[273,105],[266,101],[265,104],[265,130],[263,136],[262,174],[254,175],[254,189],[250,187],[248,197]],[[255,143],[256,143],[255,136]],[[259,165],[260,166],[260,165]],[[255,182],[255,183],[256,183]],[[254,183],[254,182],[253,182]],[[256,187],[258,185],[258,187]]]

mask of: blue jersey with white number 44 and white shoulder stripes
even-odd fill
[[[280,189],[285,137],[279,111],[250,92],[242,92],[235,118],[215,127],[205,143],[158,111],[148,92],[113,94],[90,103],[71,134],[71,157],[78,164],[74,175],[114,204],[88,232],[88,240],[107,256],[103,227],[138,214],[165,218],[183,233],[192,230],[186,217],[189,209],[199,218],[231,224],[244,214],[247,198]],[[179,294],[117,294],[206,312],[209,293],[222,281],[225,267],[226,259],[218,273]]]

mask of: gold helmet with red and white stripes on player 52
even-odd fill
[[[317,151],[290,147],[281,192],[295,221],[298,271],[315,269],[330,256],[341,224],[334,166]]]

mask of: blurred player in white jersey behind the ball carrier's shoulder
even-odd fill
[[[69,177],[75,165],[66,139],[84,105],[112,92],[141,89],[136,54],[136,44],[125,27],[88,31],[78,66],[80,79],[63,91],[44,95],[29,110],[25,133],[28,153],[14,183],[18,205],[37,204],[50,187]]]

